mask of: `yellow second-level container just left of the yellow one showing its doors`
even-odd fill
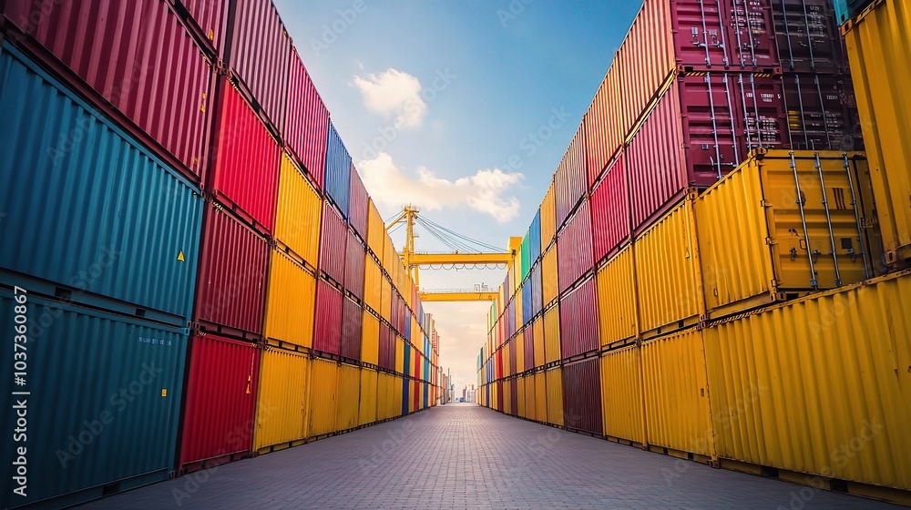
[[[695,194],[681,200],[635,241],[633,260],[644,337],[676,331],[701,318],[704,304],[693,199]]]

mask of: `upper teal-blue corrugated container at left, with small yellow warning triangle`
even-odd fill
[[[9,46],[0,54],[0,108],[16,127],[0,137],[0,201],[9,211],[0,235],[19,243],[0,253],[4,280],[49,295],[59,285],[74,290],[73,301],[125,313],[138,305],[151,309],[148,318],[185,324],[199,189]],[[49,281],[14,280],[9,270]]]

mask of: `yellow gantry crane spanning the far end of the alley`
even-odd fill
[[[465,290],[449,290],[449,291],[421,291],[421,280],[419,274],[419,268],[421,266],[430,266],[430,265],[461,265],[461,266],[485,266],[485,265],[507,265],[516,257],[516,252],[519,249],[519,246],[522,244],[522,238],[509,238],[509,251],[472,251],[468,243],[476,244],[488,249],[496,250],[496,247],[487,245],[485,243],[471,240],[457,234],[452,230],[448,230],[445,227],[437,225],[433,221],[428,219],[420,219],[418,213],[421,212],[421,209],[416,208],[415,206],[409,204],[402,209],[402,212],[395,216],[394,219],[388,221],[385,225],[386,231],[389,232],[394,230],[394,228],[400,223],[404,222],[405,225],[405,237],[404,237],[404,247],[400,257],[404,262],[405,268],[408,270],[409,276],[415,280],[415,286],[418,288],[418,293],[421,296],[421,301],[493,301],[496,298],[496,291],[490,290],[486,286],[476,285],[475,288],[465,289]],[[419,252],[415,250],[415,238],[419,237],[415,234],[415,223],[420,222],[422,226],[431,230],[431,233],[438,238],[440,236],[435,232],[446,232],[449,235],[453,236],[452,239],[461,239],[466,242],[458,242],[455,244],[456,250],[447,253],[427,253]],[[442,238],[441,238],[442,239]],[[451,246],[452,247],[452,246]],[[457,250],[459,247],[467,248],[466,252],[460,252]]]

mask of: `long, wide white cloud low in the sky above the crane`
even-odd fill
[[[478,170],[475,175],[455,179],[436,177],[421,167],[417,178],[405,175],[395,167],[393,158],[381,152],[374,159],[361,161],[363,184],[370,196],[390,209],[415,204],[423,209],[458,209],[467,207],[489,214],[499,223],[518,215],[518,199],[507,197],[507,190],[524,176],[507,173],[499,168]]]

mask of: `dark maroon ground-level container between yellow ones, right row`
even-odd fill
[[[563,365],[563,424],[601,435],[601,372],[598,357]]]

